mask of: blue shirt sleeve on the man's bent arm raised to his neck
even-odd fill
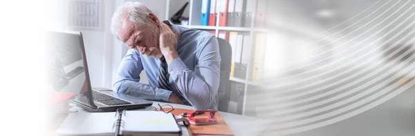
[[[210,37],[204,44],[205,46],[198,51],[197,64],[193,71],[187,68],[180,57],[174,59],[168,67],[178,92],[196,110],[208,109],[219,88],[219,43],[215,37]]]

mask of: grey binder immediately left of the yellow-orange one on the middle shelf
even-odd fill
[[[239,72],[241,72],[241,79],[246,79],[246,71],[248,69],[247,66],[250,58],[250,50],[250,35],[243,35],[241,67],[239,67]]]

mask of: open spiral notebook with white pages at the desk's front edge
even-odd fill
[[[120,116],[121,115],[121,116]],[[118,113],[71,113],[57,129],[57,135],[180,135],[172,113],[127,111]]]

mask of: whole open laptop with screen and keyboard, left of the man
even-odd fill
[[[81,32],[48,32],[48,82],[59,93],[78,94],[73,102],[89,112],[113,112],[146,108],[146,97],[115,93],[107,88],[91,88]]]

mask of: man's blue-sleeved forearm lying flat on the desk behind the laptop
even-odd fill
[[[124,93],[149,100],[168,101],[172,93],[170,90],[155,88],[149,84],[142,84],[137,81],[123,80],[114,84],[113,89],[117,93]]]

